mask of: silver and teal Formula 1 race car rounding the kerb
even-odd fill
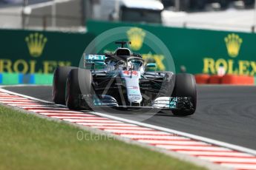
[[[194,76],[158,72],[145,64],[125,44],[114,53],[83,55],[81,67],[57,67],[53,76],[53,101],[69,109],[111,107],[171,110],[174,115],[194,114],[197,89]],[[151,69],[151,70],[150,70]],[[154,69],[154,70],[152,70]]]

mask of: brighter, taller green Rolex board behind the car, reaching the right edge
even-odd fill
[[[131,41],[131,50],[141,53],[146,60],[157,63],[159,70],[166,69],[164,55],[152,53],[143,43],[145,30],[157,35],[171,52],[176,71],[186,67],[186,72],[216,74],[223,67],[227,74],[256,74],[256,35],[213,30],[193,30],[146,24],[124,24],[89,21],[88,30],[99,35],[114,27],[131,27],[125,34]],[[114,47],[109,47],[114,50]]]

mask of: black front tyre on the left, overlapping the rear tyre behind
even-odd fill
[[[72,69],[66,83],[66,106],[69,109],[91,109],[88,103],[83,102],[79,96],[91,95],[92,76],[87,69]]]

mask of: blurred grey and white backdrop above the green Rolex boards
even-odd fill
[[[254,0],[1,0],[0,27],[85,31],[88,19],[253,32]]]

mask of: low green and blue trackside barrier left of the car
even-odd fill
[[[0,73],[0,84],[52,84],[53,74]]]

